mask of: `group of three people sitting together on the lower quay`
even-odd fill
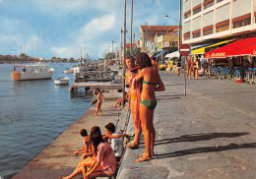
[[[122,137],[126,134],[116,134],[113,123],[105,125],[105,135],[102,136],[98,126],[91,129],[88,135],[86,129],[81,129],[85,147],[74,152],[82,153],[82,160],[76,169],[63,179],[72,179],[79,173],[83,173],[84,179],[98,176],[113,176],[116,173],[116,157],[120,157],[123,148]],[[109,145],[110,143],[110,145]]]

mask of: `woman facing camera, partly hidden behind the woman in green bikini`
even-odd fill
[[[138,146],[139,146],[140,137],[142,134],[142,128],[141,128],[140,121],[139,121],[139,115],[137,114],[139,112],[139,106],[136,105],[136,103],[137,103],[136,97],[140,97],[140,96],[137,96],[137,94],[138,94],[137,88],[134,88],[132,86],[133,78],[138,73],[138,69],[137,70],[133,69],[134,64],[135,64],[135,59],[131,55],[125,56],[125,63],[128,68],[128,72],[127,72],[127,76],[126,76],[126,83],[129,85],[128,101],[129,101],[129,107],[131,110],[132,118],[134,121],[134,131],[135,131],[134,140],[132,142],[130,142],[128,145],[126,145],[126,147],[135,149],[135,148],[138,148]],[[140,100],[140,98],[138,100]]]

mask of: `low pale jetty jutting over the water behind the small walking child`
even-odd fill
[[[113,84],[113,83],[74,83],[70,87],[70,91],[76,89],[122,89],[122,84]]]

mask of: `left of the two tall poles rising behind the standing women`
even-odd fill
[[[126,46],[126,0],[124,0],[124,23],[123,23],[123,108],[125,105],[125,46]]]

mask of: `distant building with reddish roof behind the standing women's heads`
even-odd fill
[[[147,51],[148,45],[154,42],[155,36],[165,35],[178,26],[140,26],[140,47]]]

